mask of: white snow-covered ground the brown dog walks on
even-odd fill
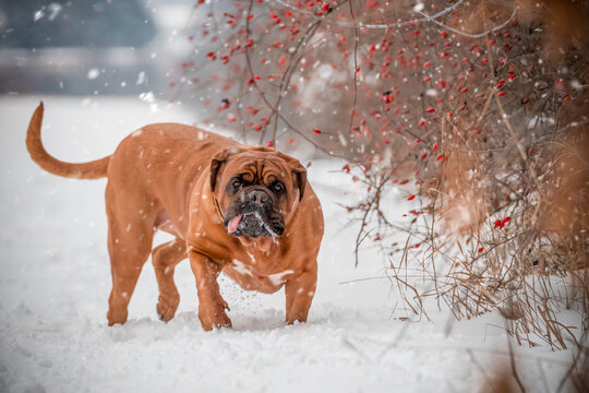
[[[106,181],[58,178],[29,159],[25,132],[38,99],[0,97],[0,392],[477,392],[509,362],[496,314],[407,322],[387,279],[341,284],[382,275],[385,265],[366,251],[353,267],[357,228],[337,205],[353,198],[353,184],[332,172],[341,167],[334,162],[309,169],[326,224],[309,323],[284,324],[281,293],[247,293],[223,277],[233,329],[204,332],[188,262],[176,271],[177,317],[164,323],[148,262],[129,322],[108,327]],[[44,100],[45,144],[64,160],[110,154],[149,122],[193,122],[187,109],[154,112],[134,97]],[[515,350],[531,392],[554,391],[572,358],[546,347]]]

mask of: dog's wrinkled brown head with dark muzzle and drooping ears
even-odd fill
[[[273,148],[227,148],[211,160],[211,191],[231,236],[281,236],[305,186],[301,163]]]

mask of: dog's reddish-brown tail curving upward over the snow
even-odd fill
[[[76,179],[99,179],[106,177],[110,156],[89,163],[71,164],[59,160],[47,153],[40,138],[43,111],[41,102],[37,109],[35,109],[28,124],[28,130],[26,131],[26,148],[28,150],[28,154],[31,154],[31,158],[43,169],[57,176]]]

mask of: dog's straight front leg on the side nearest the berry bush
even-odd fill
[[[286,322],[306,322],[306,315],[315,295],[317,284],[317,270],[305,271],[299,276],[287,281],[286,294]]]

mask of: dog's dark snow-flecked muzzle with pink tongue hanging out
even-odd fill
[[[274,196],[264,188],[243,189],[233,201],[224,223],[229,235],[279,237],[285,231],[283,214]]]

